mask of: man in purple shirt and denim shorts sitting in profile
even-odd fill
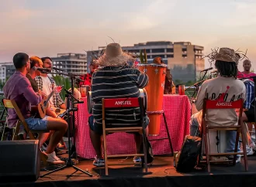
[[[54,148],[57,146],[58,142],[61,141],[63,134],[67,130],[67,122],[52,117],[40,119],[31,116],[31,105],[39,104],[42,100],[42,95],[35,93],[31,87],[31,83],[26,78],[26,74],[29,73],[30,69],[29,56],[26,53],[17,53],[13,56],[13,63],[16,67],[16,72],[5,83],[5,87],[3,87],[5,99],[16,101],[29,129],[54,131],[47,150],[44,153],[48,157],[47,162],[64,164],[60,158],[57,158]],[[7,117],[9,128],[14,128],[18,119],[16,111],[9,109]]]

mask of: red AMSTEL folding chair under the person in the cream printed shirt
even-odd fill
[[[206,149],[206,165],[208,172],[210,172],[210,156],[227,156],[227,155],[234,155],[233,158],[233,165],[236,164],[237,155],[244,155],[244,168],[245,171],[248,170],[247,165],[247,151],[246,151],[246,126],[244,124],[244,121],[242,121],[242,112],[243,112],[243,104],[244,100],[240,99],[234,102],[220,102],[218,100],[204,100],[203,109],[202,109],[202,137],[204,140],[204,145]],[[222,109],[239,109],[239,115],[238,115],[238,124],[237,125],[230,125],[230,126],[212,126],[207,125],[206,121],[206,111],[207,110],[222,110]],[[236,145],[234,153],[216,153],[216,154],[210,154],[209,152],[209,130],[216,130],[216,131],[237,131],[237,138],[236,138]],[[241,132],[241,138],[242,138],[242,144],[243,144],[243,153],[237,152],[237,145],[239,141],[239,135]],[[213,161],[218,162],[218,161]],[[219,162],[230,162],[230,161],[219,161]]]

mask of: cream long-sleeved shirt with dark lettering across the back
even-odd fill
[[[234,77],[217,76],[214,79],[206,80],[202,83],[195,101],[197,110],[202,110],[203,100],[217,100],[220,94],[224,93],[224,101],[232,102],[246,98],[246,89],[241,80]],[[209,125],[228,126],[237,124],[237,114],[233,109],[208,109],[206,121]]]

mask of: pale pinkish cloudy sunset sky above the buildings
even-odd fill
[[[256,70],[255,10],[256,0],[2,0],[0,62],[18,52],[85,53],[111,36],[121,46],[164,40],[204,46],[205,54],[247,50]]]

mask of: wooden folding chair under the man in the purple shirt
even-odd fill
[[[19,133],[19,127],[20,127],[20,124],[22,124],[25,128],[25,131],[26,133],[29,135],[29,139],[30,140],[36,140],[35,136],[33,135],[33,133],[43,133],[43,132],[49,132],[49,131],[32,131],[32,130],[29,130],[29,126],[28,124],[26,123],[25,121],[25,118],[22,116],[22,113],[21,111],[19,110],[19,107],[17,106],[16,104],[16,101],[15,100],[5,100],[5,99],[2,99],[2,104],[4,105],[4,107],[7,109],[7,108],[13,108],[14,110],[16,110],[16,114],[18,115],[19,117],[19,120],[17,121],[17,124],[16,124],[16,129],[15,129],[15,133],[12,137],[12,140],[16,140],[17,138],[17,135]],[[41,160],[43,162],[43,165],[47,165],[47,158],[46,156],[41,152]]]

